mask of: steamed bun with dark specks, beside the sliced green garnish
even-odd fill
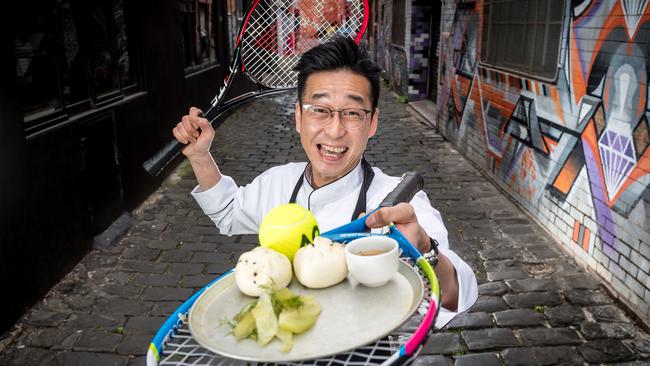
[[[257,247],[243,253],[235,266],[237,287],[248,296],[260,296],[269,289],[281,290],[291,282],[291,262],[272,249]]]

